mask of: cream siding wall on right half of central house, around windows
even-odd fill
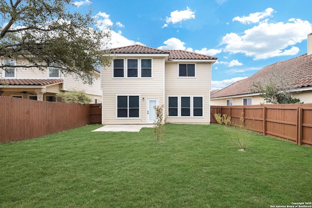
[[[202,117],[170,117],[168,123],[210,124],[211,63],[195,63],[195,77],[178,77],[178,64],[194,62],[166,62],[165,70],[165,112],[168,114],[169,96],[202,96]]]

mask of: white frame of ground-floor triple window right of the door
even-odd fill
[[[177,116],[169,116],[169,97],[177,97]],[[190,97],[190,116],[182,116],[181,115],[181,97]],[[195,116],[194,115],[194,97],[201,97],[202,98],[202,116]],[[204,96],[203,95],[168,95],[167,96],[167,111],[168,111],[168,118],[203,118],[204,115]]]

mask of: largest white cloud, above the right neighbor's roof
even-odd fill
[[[242,53],[254,60],[285,55],[296,55],[299,49],[293,45],[300,43],[311,33],[311,23],[307,20],[289,19],[287,22],[264,21],[244,31],[243,35],[226,34],[222,44],[224,52]]]

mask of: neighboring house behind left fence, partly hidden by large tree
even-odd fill
[[[16,60],[1,57],[1,66],[9,62],[16,64]],[[70,90],[83,90],[92,98],[93,103],[101,102],[100,71],[95,70],[98,79],[83,84],[81,79],[74,76],[64,76],[58,68],[49,67],[45,71],[38,68],[16,69],[6,67],[0,71],[0,96],[12,96],[41,101],[56,101],[55,95]]]

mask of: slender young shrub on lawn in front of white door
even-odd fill
[[[164,115],[164,106],[154,106],[156,111],[156,120],[154,121],[154,135],[156,141],[159,142],[163,140],[164,137],[164,130],[165,130],[165,123],[167,116]]]

